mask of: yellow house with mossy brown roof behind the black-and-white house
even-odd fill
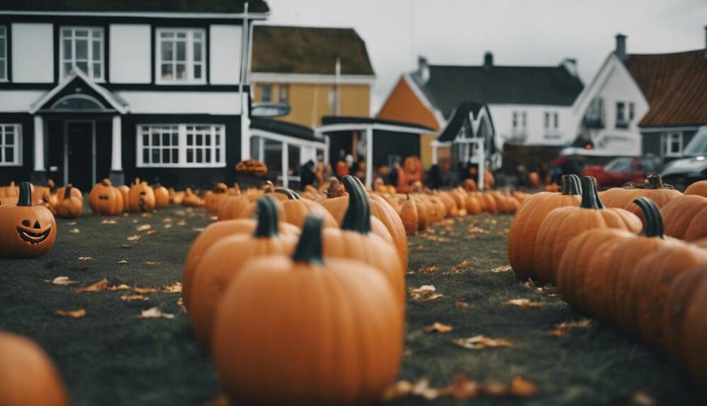
[[[325,116],[370,117],[375,73],[354,29],[257,25],[252,49],[252,101],[289,105],[277,119],[312,128]]]

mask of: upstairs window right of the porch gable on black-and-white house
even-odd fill
[[[206,83],[206,31],[197,28],[157,30],[157,83]]]

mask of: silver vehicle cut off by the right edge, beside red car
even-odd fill
[[[665,165],[660,173],[666,183],[679,191],[707,179],[707,126],[701,127],[682,151],[682,158]]]

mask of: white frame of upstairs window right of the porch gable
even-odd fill
[[[194,33],[201,33],[201,61],[194,61]],[[186,34],[186,76],[184,79],[177,78],[177,59],[176,50],[174,52],[175,59],[171,61],[173,64],[173,76],[172,79],[165,79],[162,77],[162,34],[163,33],[173,33]],[[175,38],[172,42],[176,42]],[[194,66],[197,64],[201,65],[201,78],[194,78]],[[204,28],[157,28],[155,30],[155,83],[158,85],[204,85],[206,84],[206,69],[209,66],[206,61],[206,30]]]

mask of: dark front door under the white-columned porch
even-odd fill
[[[69,177],[67,183],[81,189],[84,194],[95,183],[93,179],[93,122],[68,121],[66,123],[66,157]]]

